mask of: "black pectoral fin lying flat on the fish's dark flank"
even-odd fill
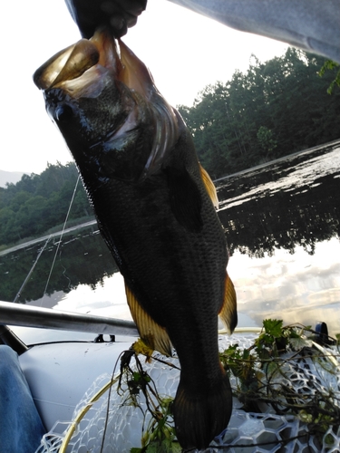
[[[199,188],[184,167],[166,167],[170,207],[180,223],[189,231],[199,231],[203,226],[201,217],[202,198]]]

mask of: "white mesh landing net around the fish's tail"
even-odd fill
[[[239,347],[248,348],[253,344],[255,337],[253,334],[232,339],[223,336],[220,338],[220,347],[224,350],[228,345],[238,342]],[[279,371],[272,375],[272,389],[275,390],[277,385],[276,405],[262,403],[262,413],[246,412],[241,409],[242,404],[239,400],[234,398],[233,413],[228,428],[210,444],[210,448],[204,450],[205,452],[335,453],[340,451],[338,426],[327,427],[322,435],[310,435],[307,403],[306,412],[301,411],[298,416],[285,415],[281,411],[285,410],[287,394],[294,390],[295,398],[297,395],[296,403],[304,401],[306,395],[312,395],[324,398],[340,412],[340,361],[329,348],[323,349],[322,356],[316,354],[318,352],[316,346],[307,347],[305,350],[305,353],[299,353],[296,357],[294,352],[287,353],[286,361],[283,361]],[[158,353],[154,355],[164,359]],[[318,355],[317,358],[316,355]],[[175,358],[165,360],[179,366]],[[144,363],[142,360],[142,366],[155,381],[160,395],[175,396],[180,377],[179,370],[153,360],[151,363]],[[131,368],[133,368],[132,365]],[[93,382],[92,387],[74,410],[73,419],[108,381],[111,381],[111,376],[103,375]],[[233,390],[238,394],[238,380],[231,378],[230,382]],[[282,390],[285,397],[281,400],[279,395],[282,394]],[[141,396],[139,397],[141,409],[122,405],[126,398],[126,393],[120,395],[117,392],[117,382],[114,383],[111,390],[106,391],[85,414],[65,451],[67,453],[129,453],[131,448],[141,448],[142,429],[147,428],[150,420],[148,416],[144,419],[142,414],[142,410],[147,409],[146,402]],[[108,401],[110,401],[109,407]],[[321,407],[327,409],[323,403]],[[280,413],[277,414],[277,411]],[[65,424],[63,435],[53,433],[52,429],[44,436],[42,445],[36,453],[59,452],[70,425],[71,423]],[[60,431],[59,428],[58,430]]]

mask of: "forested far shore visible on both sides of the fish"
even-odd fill
[[[254,56],[248,72],[205,87],[192,107],[178,106],[212,178],[340,137],[340,90],[327,92],[338,68],[320,77],[324,63],[293,48],[266,63]],[[0,246],[63,225],[77,179],[73,162],[56,163],[0,188]],[[93,211],[79,181],[69,219],[84,217]]]

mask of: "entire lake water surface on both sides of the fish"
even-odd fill
[[[340,141],[217,181],[238,326],[266,318],[340,333]],[[95,223],[0,254],[0,300],[131,319]],[[157,275],[155,275],[157,278]]]

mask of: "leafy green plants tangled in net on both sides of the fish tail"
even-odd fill
[[[340,425],[339,391],[331,385],[323,386],[321,375],[323,371],[338,373],[338,350],[317,345],[315,334],[310,326],[284,326],[281,320],[267,319],[248,348],[231,344],[220,352],[220,361],[233,378],[234,396],[244,410],[258,413],[270,406],[277,414],[294,415],[306,424],[303,436],[315,436],[320,446],[323,442],[332,445],[334,439],[326,438],[325,433],[330,426],[336,429]],[[173,426],[172,398],[159,395],[139,355],[146,361],[161,361],[152,356],[151,349],[141,340],[121,358],[118,391],[125,397],[123,404],[140,408],[144,417],[141,448],[131,448],[131,453],[180,453]],[[132,358],[134,367],[130,365]],[[174,367],[168,361],[161,362]],[[301,382],[307,382],[307,388]],[[146,410],[142,408],[141,395]]]

